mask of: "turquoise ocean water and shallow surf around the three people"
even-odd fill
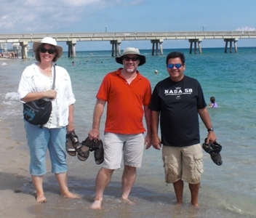
[[[169,52],[185,53],[185,75],[196,78],[204,90],[204,97],[214,96],[220,108],[209,108],[217,142],[223,146],[223,165],[217,166],[204,152],[204,173],[201,177],[199,209],[190,205],[188,185],[184,189],[184,205],[175,206],[172,184],[164,182],[161,151],[145,150],[143,166],[137,169],[137,179],[130,198],[135,206],[120,203],[121,174],[123,168],[114,172],[111,183],[105,190],[103,209],[93,211],[89,206],[95,195],[97,166],[93,153],[87,161],[79,161],[67,155],[68,184],[71,190],[83,195],[81,200],[60,198],[57,182],[50,172],[44,178],[44,190],[48,203],[31,206],[31,214],[41,217],[256,217],[256,49],[239,48],[238,53],[224,53],[224,48],[203,49],[202,54],[189,55],[188,49],[164,49],[164,55],[152,56],[151,50],[140,50],[147,62],[138,70],[151,81],[152,88],[158,81],[167,78],[165,59]],[[0,61],[0,119],[7,121],[14,132],[12,137],[23,144],[19,149],[28,150],[23,129],[22,104],[16,91],[21,73],[31,65],[30,60]],[[72,65],[72,61],[75,65]],[[6,62],[7,65],[3,65]],[[92,127],[95,95],[105,73],[121,65],[111,57],[111,51],[76,52],[68,58],[67,52],[57,65],[68,70],[73,84],[75,103],[75,126],[79,140],[87,137]],[[155,75],[155,70],[159,71]],[[101,119],[100,133],[103,138],[105,113]],[[207,130],[200,120],[201,143]],[[50,171],[50,168],[49,168]],[[28,178],[30,175],[28,174]],[[33,194],[33,185],[22,187],[24,193]]]

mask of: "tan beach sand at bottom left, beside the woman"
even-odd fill
[[[35,198],[22,193],[22,187],[31,183],[28,173],[29,153],[20,150],[20,142],[12,140],[11,129],[0,121],[0,217],[35,217],[28,207]]]

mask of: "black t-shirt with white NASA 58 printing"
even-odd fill
[[[200,142],[198,109],[207,106],[199,81],[184,76],[159,81],[153,89],[151,110],[160,111],[161,143],[189,146]]]

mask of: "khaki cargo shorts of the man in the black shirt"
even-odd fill
[[[165,182],[173,183],[182,179],[191,184],[198,184],[203,169],[203,153],[200,144],[171,147],[163,146]]]

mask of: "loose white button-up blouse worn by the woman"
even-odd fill
[[[71,78],[65,68],[55,65],[56,78],[55,90],[57,97],[52,100],[52,113],[47,124],[47,128],[59,128],[68,125],[68,106],[76,102],[73,95]],[[52,66],[52,78],[40,73],[36,63],[25,68],[20,78],[17,90],[18,99],[23,99],[29,92],[46,92],[52,89],[54,67]],[[49,100],[45,98],[44,100]],[[21,101],[23,102],[23,101]],[[23,102],[24,103],[24,102]]]

